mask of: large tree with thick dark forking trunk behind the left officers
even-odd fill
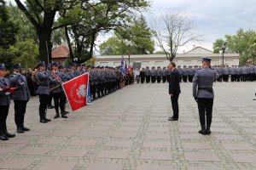
[[[71,23],[55,26],[55,14],[64,7],[72,8],[76,0],[26,0],[21,3],[15,0],[18,8],[34,26],[39,40],[39,58],[45,62],[51,61],[52,31]],[[25,5],[26,4],[26,5]]]

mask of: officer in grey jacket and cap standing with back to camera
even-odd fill
[[[212,105],[213,105],[213,82],[218,77],[218,73],[211,68],[211,59],[203,58],[202,69],[195,71],[193,80],[193,96],[198,103],[198,111],[201,122],[201,134],[210,134],[212,123]],[[206,119],[207,115],[207,128]]]

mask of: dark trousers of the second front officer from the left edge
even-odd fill
[[[24,125],[27,101],[28,100],[14,100],[14,102],[15,102],[15,124],[17,127]]]

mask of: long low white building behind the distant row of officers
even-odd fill
[[[96,66],[119,66],[120,55],[101,55],[96,56]],[[176,65],[187,65],[187,66],[194,66],[194,65],[201,65],[201,58],[202,57],[209,57],[212,58],[212,65],[222,65],[223,58],[222,54],[213,54],[212,51],[196,47],[184,54],[177,54],[173,61]],[[128,56],[124,56],[125,60],[128,64]],[[239,65],[239,54],[224,54],[224,65]],[[143,55],[132,55],[130,56],[130,63],[134,65],[134,67],[146,67],[149,66],[160,66],[164,67],[169,65],[169,60],[166,59],[165,54],[143,54]]]

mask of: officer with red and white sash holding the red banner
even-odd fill
[[[61,109],[61,117],[67,118],[65,113],[65,103],[66,103],[66,97],[63,88],[61,87],[61,83],[65,82],[65,74],[58,70],[58,63],[54,62],[51,64],[52,71],[50,74],[50,88],[51,94],[53,96],[54,102],[55,102],[55,112],[56,115],[54,118],[60,117],[60,110]]]

